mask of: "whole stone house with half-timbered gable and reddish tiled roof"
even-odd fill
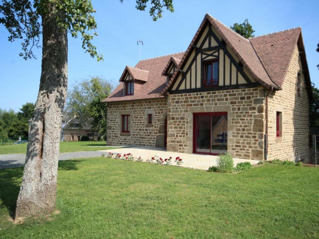
[[[185,52],[126,66],[108,145],[245,159],[308,157],[313,100],[301,28],[245,39],[206,14]]]

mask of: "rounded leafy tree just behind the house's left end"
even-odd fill
[[[68,92],[65,111],[69,116],[77,117],[82,126],[90,124],[105,139],[106,106],[101,100],[108,97],[113,85],[102,77],[77,82]]]

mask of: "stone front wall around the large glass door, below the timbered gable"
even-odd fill
[[[228,112],[227,151],[233,157],[263,160],[265,91],[262,87],[170,94],[167,150],[193,152],[193,113]]]

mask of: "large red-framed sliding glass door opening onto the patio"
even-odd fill
[[[193,152],[219,155],[227,152],[227,112],[194,113]]]

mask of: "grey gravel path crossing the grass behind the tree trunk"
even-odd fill
[[[101,154],[106,154],[106,153],[101,151],[80,151],[80,152],[60,153],[59,160],[97,157],[97,156],[101,156]],[[25,160],[26,160],[25,154],[0,154],[0,169],[23,166]]]

